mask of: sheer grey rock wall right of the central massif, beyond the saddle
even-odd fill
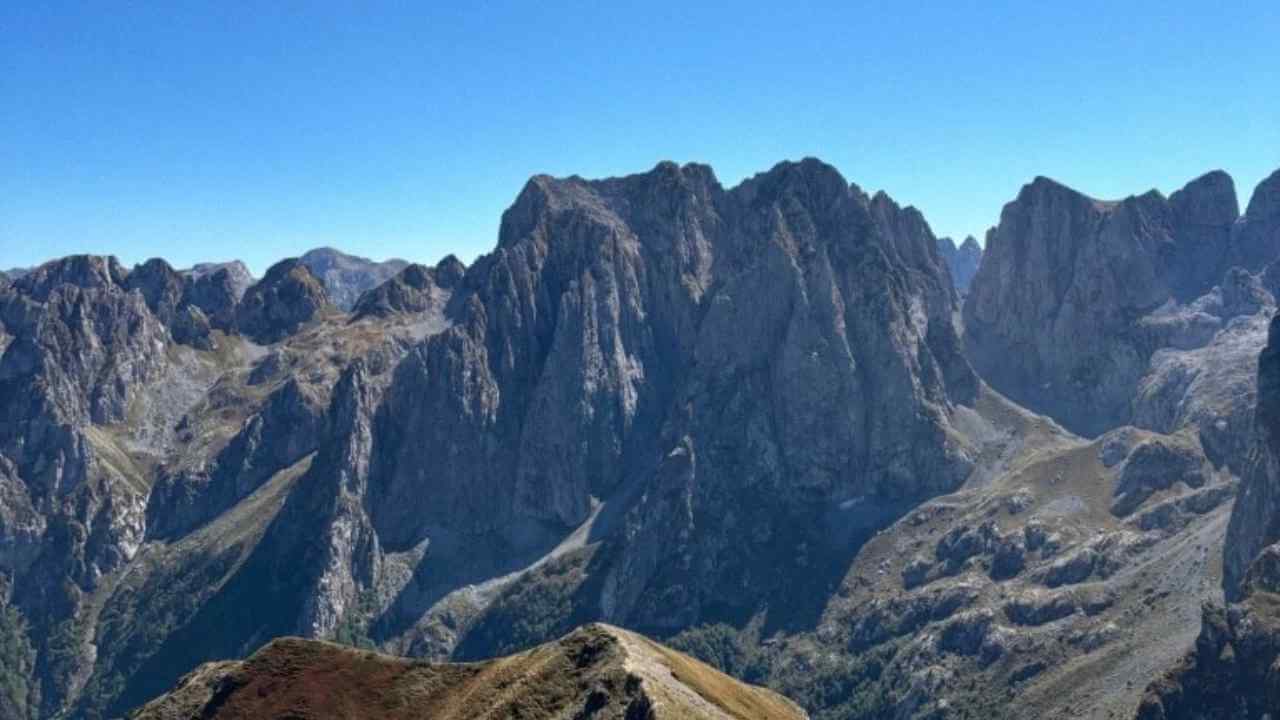
[[[993,387],[1078,433],[1133,421],[1157,351],[1203,347],[1265,302],[1233,295],[1233,264],[1256,273],[1275,259],[1231,254],[1236,213],[1221,172],[1167,200],[1119,202],[1037,178],[1005,206],[974,277],[969,357]]]

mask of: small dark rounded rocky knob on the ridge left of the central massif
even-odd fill
[[[257,342],[278,342],[329,307],[329,296],[311,270],[301,260],[282,260],[244,291],[236,306],[236,327]]]

